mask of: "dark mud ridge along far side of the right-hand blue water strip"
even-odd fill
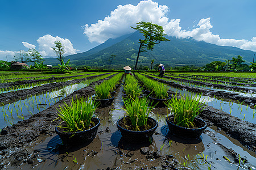
[[[177,84],[177,83],[174,83],[174,82],[168,82],[168,81],[163,80],[163,79],[154,78],[154,77],[149,76],[149,75],[145,75],[145,76],[147,76],[148,78],[154,79],[154,80],[158,80],[158,82],[168,84],[171,87],[179,88],[179,89],[182,89],[182,90],[201,93],[201,94],[207,95],[207,96],[218,96],[218,97],[221,97],[222,99],[224,98],[224,99],[238,100],[238,101],[243,102],[243,103],[245,103],[247,105],[250,105],[250,106],[256,105],[256,98],[255,97],[241,96],[241,95],[238,95],[238,94],[231,94],[231,93],[225,92],[225,91],[214,91],[214,90],[207,90],[207,89],[198,88],[198,87],[189,87],[189,86],[184,86],[182,84]]]

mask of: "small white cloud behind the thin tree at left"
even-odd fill
[[[68,39],[63,39],[58,36],[53,37],[51,35],[45,35],[40,37],[38,40],[39,44],[39,53],[42,56],[56,56],[53,52],[52,47],[55,46],[54,41],[60,41],[61,44],[64,44],[65,53],[64,56],[76,54],[76,49],[73,48],[73,44]]]

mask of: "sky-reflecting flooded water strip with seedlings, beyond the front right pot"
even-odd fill
[[[191,92],[180,90],[173,87],[170,87],[170,90],[183,96],[191,95]],[[254,108],[253,105],[247,106],[241,103],[238,104],[236,103],[237,101],[230,101],[230,99],[218,99],[204,95],[201,96],[201,99],[204,99],[205,104],[211,107],[220,109],[226,113],[230,113],[232,116],[236,116],[241,120],[256,124],[256,107]]]

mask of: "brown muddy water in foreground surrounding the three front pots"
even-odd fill
[[[185,141],[174,137],[168,132],[165,118],[169,113],[168,108],[155,108],[150,117],[159,122],[159,127],[153,135],[151,144],[142,146],[125,143],[116,128],[118,118],[125,114],[122,110],[122,87],[115,95],[111,107],[97,109],[96,115],[101,119],[96,138],[92,143],[83,146],[59,147],[61,143],[58,135],[48,137],[45,141],[34,146],[39,150],[38,162],[33,164],[35,169],[106,169],[118,167],[118,169],[141,169],[141,167],[159,167],[158,159],[147,159],[141,154],[139,148],[147,146],[158,154],[174,155],[181,163],[192,169],[255,169],[256,155],[247,150],[240,142],[228,137],[224,131],[215,126],[209,126],[201,135],[201,140]],[[39,139],[40,141],[40,139]],[[162,149],[161,149],[162,147]],[[238,162],[232,156],[234,153],[246,159],[245,164],[238,168]],[[203,156],[204,159],[198,155]],[[228,158],[231,163],[225,158]],[[205,158],[207,159],[205,160]],[[237,156],[236,156],[237,158]],[[26,169],[28,164],[22,164],[19,168]]]

